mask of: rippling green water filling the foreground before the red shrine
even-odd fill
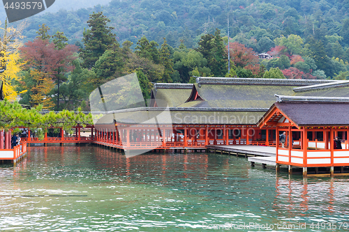
[[[228,155],[31,147],[0,166],[0,231],[349,231],[348,180]]]

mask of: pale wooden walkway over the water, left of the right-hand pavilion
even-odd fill
[[[207,146],[209,150],[221,153],[235,153],[237,155],[245,155],[248,161],[254,166],[255,163],[267,164],[276,167],[276,148],[270,146],[251,146],[251,145],[211,145]]]

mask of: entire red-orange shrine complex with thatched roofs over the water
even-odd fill
[[[22,150],[30,143],[94,143],[125,152],[252,145],[275,149],[277,171],[286,165],[304,175],[310,169],[333,175],[348,172],[348,127],[349,81],[197,77],[195,84],[154,84],[149,107],[104,112],[95,125],[76,127],[75,137],[62,130],[43,141],[29,135]],[[9,149],[5,137],[0,159],[16,160],[19,148]]]

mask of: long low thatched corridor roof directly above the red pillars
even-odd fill
[[[122,111],[110,111],[103,114],[95,124],[117,123],[131,125],[255,125],[265,114],[265,110],[251,109],[188,109],[140,107]],[[156,123],[157,121],[157,123]]]

